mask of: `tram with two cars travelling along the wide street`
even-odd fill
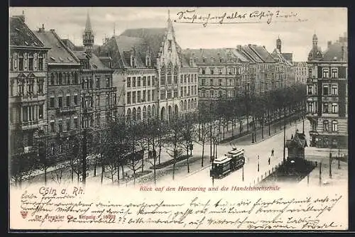
[[[224,154],[224,156],[213,160],[209,176],[221,178],[228,175],[230,172],[239,170],[245,164],[244,155],[244,149],[233,148],[228,153]]]

